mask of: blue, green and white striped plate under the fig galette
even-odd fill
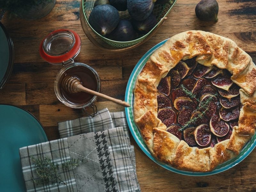
[[[178,169],[173,168],[171,165],[164,164],[163,162],[158,161],[149,152],[149,150],[147,148],[147,145],[144,143],[144,141],[143,141],[143,139],[140,135],[140,131],[139,131],[138,127],[136,126],[136,124],[134,122],[134,119],[133,119],[133,89],[134,89],[134,84],[135,84],[135,81],[137,79],[137,76],[140,74],[140,71],[142,70],[142,68],[146,64],[150,55],[156,49],[161,47],[166,41],[167,41],[167,39],[162,41],[161,43],[155,45],[145,55],[143,55],[143,57],[139,60],[139,62],[137,63],[137,65],[133,69],[132,74],[129,78],[129,81],[128,81],[128,84],[127,84],[127,87],[126,87],[126,92],[125,92],[125,101],[130,103],[132,107],[125,108],[125,115],[126,115],[126,119],[127,119],[127,122],[128,122],[129,128],[130,128],[130,131],[132,132],[132,136],[134,137],[135,141],[137,142],[137,144],[139,145],[141,150],[152,161],[154,161],[156,164],[159,164],[160,166],[162,166],[165,169],[168,169],[172,172],[180,173],[180,174],[183,174],[183,175],[191,175],[191,176],[206,176],[206,175],[213,175],[213,174],[216,174],[216,173],[226,171],[226,170],[230,169],[231,167],[234,167],[236,164],[240,163],[241,161],[243,161],[244,158],[247,157],[252,152],[252,150],[255,148],[255,145],[256,145],[256,142],[255,142],[256,135],[254,135],[251,138],[251,140],[248,141],[248,143],[244,146],[244,148],[241,150],[241,152],[238,156],[236,156],[235,158],[233,158],[229,161],[224,162],[223,164],[220,164],[218,167],[216,167],[211,172],[203,172],[203,173],[202,172],[180,171]]]

